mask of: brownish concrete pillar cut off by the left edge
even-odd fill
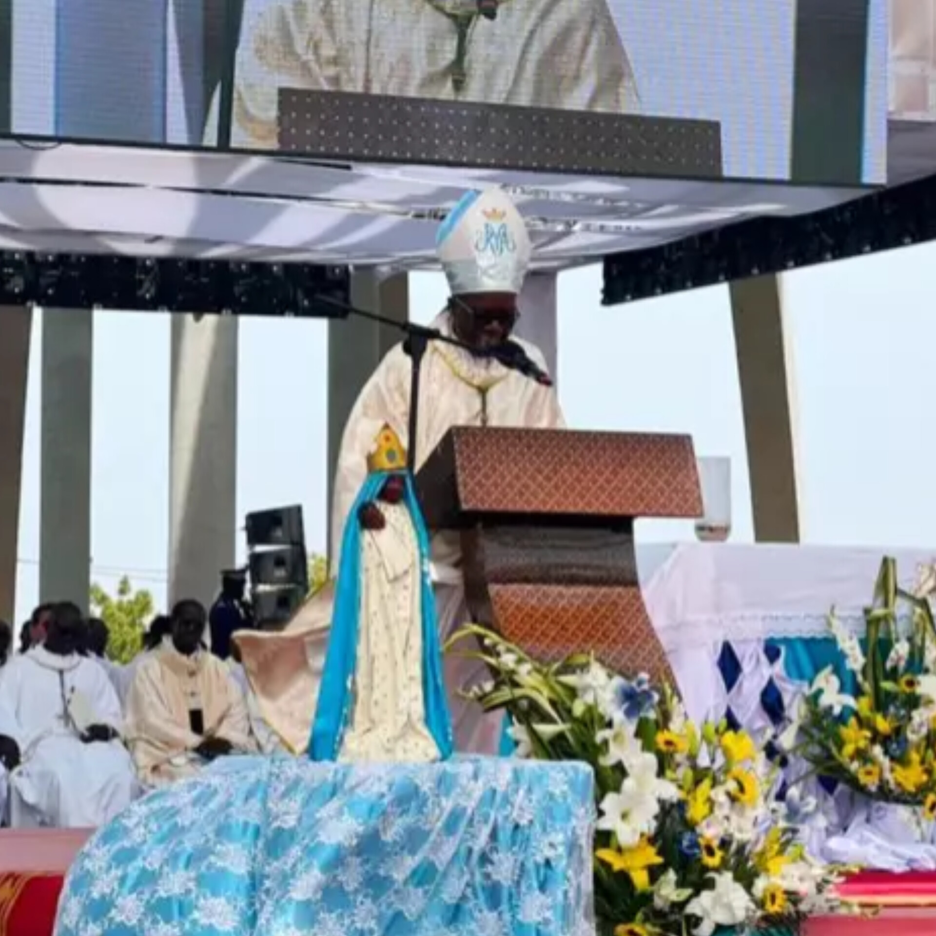
[[[13,622],[16,609],[17,545],[20,539],[22,438],[33,311],[0,308],[0,619]]]

